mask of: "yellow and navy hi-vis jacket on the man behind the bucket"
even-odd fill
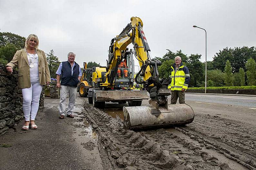
[[[181,62],[181,65],[177,72],[175,73],[175,63],[171,66],[171,75],[172,78],[171,84],[169,84],[168,89],[171,90],[182,90],[188,89],[188,84],[190,81],[189,69],[184,66]]]

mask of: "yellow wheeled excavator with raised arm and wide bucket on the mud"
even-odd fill
[[[133,50],[127,48],[131,43],[133,44]],[[120,84],[117,87],[119,65],[123,60],[128,60],[129,57],[132,57],[131,52],[138,60],[141,69],[136,74],[135,79],[133,79],[133,75],[127,78],[129,81],[126,82],[128,85],[126,87],[132,87],[129,82],[135,81],[137,84],[142,84],[146,90],[121,90],[122,85],[120,86]],[[130,62],[134,67],[131,59]],[[91,102],[97,107],[103,106],[105,101],[127,100],[128,104],[129,101],[131,101],[130,103],[135,103],[135,105],[123,106],[124,129],[192,123],[194,112],[189,105],[168,104],[167,97],[171,95],[171,92],[167,89],[167,86],[170,84],[170,80],[159,77],[158,66],[161,64],[161,61],[151,59],[142,20],[139,17],[132,17],[131,22],[123,31],[111,40],[107,66],[94,67],[92,69],[92,86],[97,88],[89,89],[89,103]],[[139,75],[143,77],[143,80],[138,79]],[[138,104],[137,101],[147,99],[147,92],[151,98],[149,106],[141,106],[141,102]]]

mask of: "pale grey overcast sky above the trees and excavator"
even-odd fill
[[[39,49],[54,50],[60,61],[106,65],[110,41],[130,23],[143,21],[153,57],[167,50],[202,54],[207,61],[225,47],[256,46],[255,0],[0,0],[0,31],[36,34]]]

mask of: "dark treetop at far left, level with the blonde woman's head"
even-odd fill
[[[6,46],[7,44],[13,44],[17,48],[24,48],[25,41],[25,37],[21,37],[17,34],[10,32],[0,32],[0,47]]]

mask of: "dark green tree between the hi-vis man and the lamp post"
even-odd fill
[[[190,73],[190,87],[198,87],[200,82],[203,81],[203,67],[200,62],[201,55],[191,54],[188,57],[187,67]]]

